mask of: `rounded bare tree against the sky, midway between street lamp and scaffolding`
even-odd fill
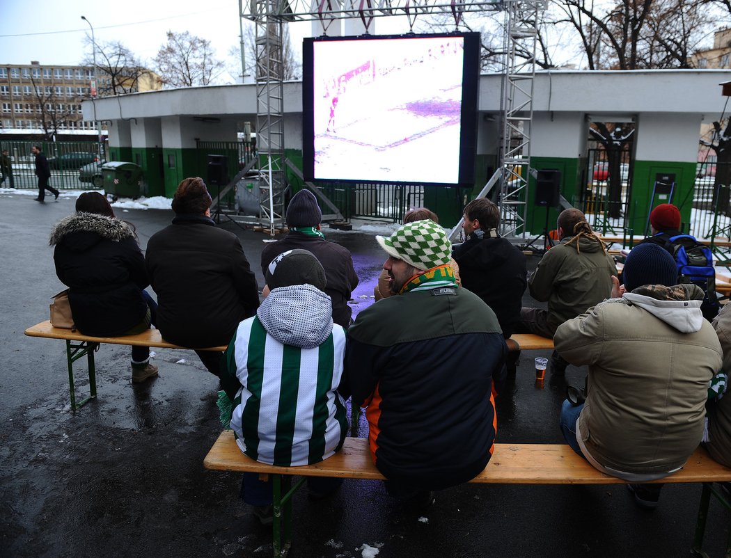
[[[167,44],[160,47],[154,63],[162,83],[170,87],[209,85],[224,70],[224,63],[213,58],[211,42],[188,31],[167,31]]]

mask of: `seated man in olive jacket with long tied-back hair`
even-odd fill
[[[531,297],[548,301],[548,310],[523,307],[516,332],[553,337],[564,321],[586,312],[612,292],[617,264],[584,214],[574,208],[564,210],[557,226],[561,242],[544,254],[528,280]],[[551,371],[563,374],[567,362],[559,352],[553,351]]]

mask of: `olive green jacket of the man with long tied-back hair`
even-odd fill
[[[580,237],[579,250],[572,237],[561,240],[539,261],[528,280],[531,297],[548,301],[548,326],[556,329],[588,308],[609,298],[617,265],[601,242]]]

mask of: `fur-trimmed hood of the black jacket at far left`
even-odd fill
[[[124,221],[106,215],[82,212],[58,221],[53,227],[48,243],[54,246],[64,242],[72,250],[83,251],[102,239],[120,242],[134,236],[132,228]],[[73,242],[66,242],[69,238],[72,238]]]

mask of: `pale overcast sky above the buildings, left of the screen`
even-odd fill
[[[118,4],[96,0],[0,0],[0,64],[80,64],[91,47],[85,42],[94,26],[96,42],[121,41],[135,56],[150,64],[166,41],[165,33],[189,31],[208,39],[216,58],[231,58],[230,47],[239,45],[238,0],[124,0]],[[110,7],[114,5],[115,9]],[[378,18],[379,32],[408,31]],[[399,18],[401,19],[401,18]],[[251,25],[248,21],[245,22]],[[390,23],[390,22],[389,22]],[[295,50],[310,34],[311,23],[289,25]],[[151,65],[151,64],[150,64]]]

